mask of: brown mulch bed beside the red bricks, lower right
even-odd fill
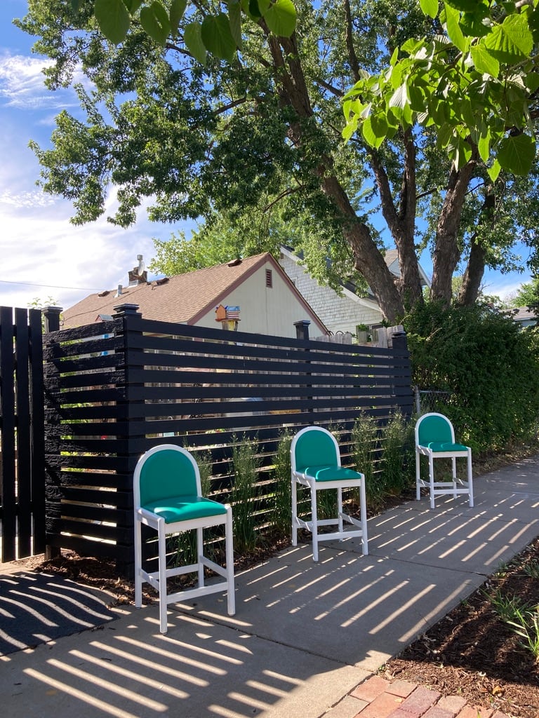
[[[517,718],[538,718],[538,660],[494,610],[500,597],[539,605],[539,579],[525,571],[530,565],[539,567],[539,538],[389,661],[384,675]]]

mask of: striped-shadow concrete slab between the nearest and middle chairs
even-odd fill
[[[375,671],[484,580],[327,546],[320,557],[315,563],[303,544],[239,574],[233,618],[208,610],[211,600],[178,608]]]

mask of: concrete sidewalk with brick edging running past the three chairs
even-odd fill
[[[160,635],[157,605],[118,608],[103,628],[0,657],[3,712],[465,718],[462,701],[372,674],[539,535],[539,457],[476,477],[475,494],[474,508],[424,499],[372,518],[369,556],[353,539],[318,564],[310,544],[282,551],[236,575],[234,617],[203,597],[173,607]]]

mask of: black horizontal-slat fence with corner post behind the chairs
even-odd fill
[[[114,319],[45,336],[47,544],[132,563],[132,476],[161,443],[210,452],[226,500],[231,446],[257,449],[257,516],[267,521],[282,432],[338,430],[344,456],[357,416],[384,424],[413,409],[405,336],[389,349]]]

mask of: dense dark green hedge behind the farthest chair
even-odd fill
[[[539,331],[485,306],[417,307],[405,317],[413,383],[448,392],[443,413],[473,451],[537,435]]]

